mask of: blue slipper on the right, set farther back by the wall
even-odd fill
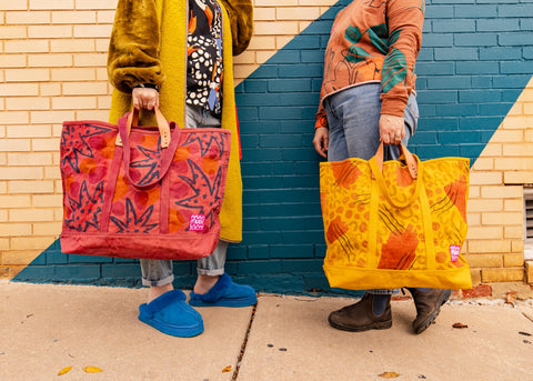
[[[191,291],[189,304],[194,307],[247,307],[258,302],[255,290],[250,285],[237,284],[224,273],[209,292],[200,294]]]

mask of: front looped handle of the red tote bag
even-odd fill
[[[161,159],[159,161],[159,173],[155,176],[151,181],[145,183],[140,183],[140,181],[133,181],[131,179],[131,148],[130,148],[130,139],[129,132],[131,131],[132,123],[135,122],[135,112],[131,112],[128,118],[121,118],[119,120],[119,137],[121,138],[121,142],[123,144],[123,161],[124,161],[124,169],[125,169],[125,177],[128,181],[138,189],[147,189],[159,181],[161,181],[167,172],[169,171],[170,164],[172,163],[172,159],[174,158],[175,150],[178,149],[178,143],[180,140],[180,129],[175,127],[173,131],[170,131],[170,126],[167,119],[163,117],[161,111],[158,108],[155,110],[155,117],[158,120],[158,128],[161,134]],[[159,113],[159,116],[158,116]],[[139,118],[139,111],[137,112],[137,121]],[[163,147],[163,140],[167,141],[165,146]],[[121,147],[121,146],[119,146]]]

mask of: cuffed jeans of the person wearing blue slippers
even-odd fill
[[[220,128],[220,117],[198,106],[187,104],[187,128]],[[198,260],[197,272],[201,275],[224,273],[228,242],[219,241],[211,255]],[[174,273],[171,260],[141,259],[143,285],[165,285],[172,283]]]

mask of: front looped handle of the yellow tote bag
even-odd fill
[[[380,186],[380,190],[382,194],[385,197],[386,201],[395,208],[405,208],[409,207],[414,200],[418,199],[419,193],[420,193],[420,188],[422,184],[422,181],[420,177],[422,176],[422,162],[420,159],[409,152],[408,148],[401,143],[400,150],[402,151],[403,157],[405,158],[405,162],[409,169],[409,173],[411,174],[411,178],[413,179],[414,182],[414,191],[411,194],[411,197],[405,200],[405,202],[396,202],[392,199],[391,193],[389,192],[389,189],[386,188],[386,182],[385,179],[383,178],[383,143],[380,144],[378,148],[378,151],[374,157],[372,157],[369,160],[370,168],[372,170],[372,178],[378,181],[378,184]]]

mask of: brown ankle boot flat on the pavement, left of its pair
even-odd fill
[[[372,311],[374,295],[365,293],[355,304],[346,305],[330,313],[330,325],[343,331],[361,332],[368,330],[384,330],[392,327],[391,295],[386,308],[379,317]]]

